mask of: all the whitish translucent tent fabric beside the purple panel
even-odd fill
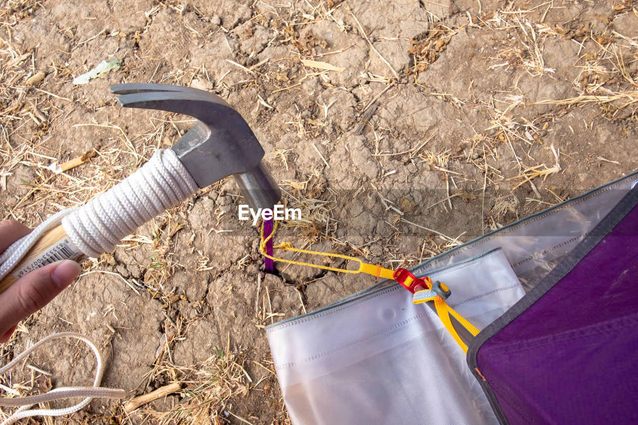
[[[413,269],[452,289],[482,329],[542,281],[638,185],[638,172],[438,255]],[[521,286],[523,283],[523,286]],[[266,327],[293,424],[492,424],[465,355],[397,283]]]

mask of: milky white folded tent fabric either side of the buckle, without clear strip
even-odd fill
[[[523,295],[501,250],[429,273],[479,329]],[[403,287],[267,329],[294,424],[492,424],[465,354],[434,311]]]

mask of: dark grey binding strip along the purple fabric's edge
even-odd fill
[[[635,174],[635,173],[634,173]],[[624,179],[624,178],[623,178]],[[505,326],[510,324],[512,320],[519,317],[526,309],[530,308],[535,302],[540,299],[547,291],[549,291],[558,281],[564,278],[574,267],[584,258],[604,237],[609,234],[620,221],[627,216],[627,214],[638,205],[638,187],[632,188],[628,191],[627,195],[623,197],[618,204],[616,204],[612,210],[596,225],[591,232],[584,237],[584,239],[574,248],[574,250],[564,258],[560,264],[556,265],[554,269],[547,274],[547,276],[538,285],[524,295],[514,306],[508,309],[498,319],[494,320],[491,324],[487,325],[482,331],[468,345],[468,353],[466,356],[466,362],[470,367],[472,375],[477,379],[481,388],[487,396],[487,400],[496,415],[496,418],[500,424],[509,424],[503,409],[501,408],[496,394],[487,384],[479,372],[478,354],[480,347],[496,333],[501,331]]]

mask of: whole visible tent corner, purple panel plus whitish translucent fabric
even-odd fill
[[[382,281],[266,328],[294,424],[637,422],[638,173],[412,269],[480,329],[467,355]]]

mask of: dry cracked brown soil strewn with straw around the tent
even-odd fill
[[[108,86],[179,84],[221,96],[260,140],[283,202],[303,211],[278,241],[416,265],[637,169],[637,7],[3,1],[2,218],[34,227],[174,144],[192,119],[123,109]],[[102,61],[119,68],[73,84]],[[48,168],[78,157],[61,174]],[[237,220],[239,204],[232,179],[199,191],[87,260],[77,283],[0,346],[4,364],[52,332],[80,332],[105,355],[103,385],[126,391],[46,423],[290,422],[265,325],[375,278],[283,263],[265,274],[259,230]],[[95,369],[72,341],[28,364],[52,375],[22,368],[2,384],[88,385]],[[124,410],[171,382],[181,389]]]

